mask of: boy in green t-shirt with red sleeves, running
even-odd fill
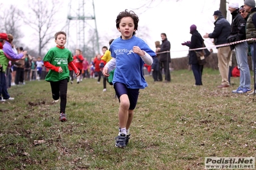
[[[60,121],[67,121],[65,107],[67,104],[67,82],[69,82],[69,65],[76,73],[80,75],[78,68],[73,63],[73,56],[70,50],[65,49],[66,33],[59,31],[55,34],[56,47],[49,49],[44,56],[44,66],[49,69],[46,75],[46,81],[51,84],[53,99],[60,98]]]

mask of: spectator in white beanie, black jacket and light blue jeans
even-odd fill
[[[230,3],[234,4],[234,3]],[[239,14],[239,9],[237,5],[229,5],[228,10],[232,15],[232,23],[231,23],[231,33],[228,36],[228,43],[237,42],[246,39],[245,35],[245,20]],[[232,90],[232,93],[247,93],[248,91],[252,91],[251,86],[251,75],[250,68],[248,65],[248,57],[247,57],[247,42],[235,43],[234,45],[230,45],[230,48],[235,49],[235,57],[237,59],[237,66],[240,70],[240,83],[237,89]]]

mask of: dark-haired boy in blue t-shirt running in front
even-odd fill
[[[143,76],[144,63],[152,65],[155,52],[141,39],[135,36],[139,17],[124,10],[115,20],[121,37],[110,45],[112,59],[103,68],[103,74],[109,76],[114,70],[113,84],[119,98],[119,134],[115,137],[115,146],[124,148],[130,139],[129,128],[133,119],[133,110],[139,97],[139,89],[148,86]]]

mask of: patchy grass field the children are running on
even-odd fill
[[[70,84],[67,118],[58,121],[49,82],[26,82],[0,103],[0,169],[204,169],[205,157],[255,157],[255,96],[218,89],[218,70],[194,87],[189,70],[140,91],[124,149],[115,148],[119,102],[96,79]],[[252,83],[253,84],[253,83]]]

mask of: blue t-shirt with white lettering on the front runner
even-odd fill
[[[133,46],[140,47],[151,57],[156,56],[146,42],[137,36],[132,36],[129,40],[121,37],[115,39],[110,45],[111,56],[116,60],[113,84],[121,82],[130,89],[144,89],[148,86],[143,75],[144,61],[133,53]]]

